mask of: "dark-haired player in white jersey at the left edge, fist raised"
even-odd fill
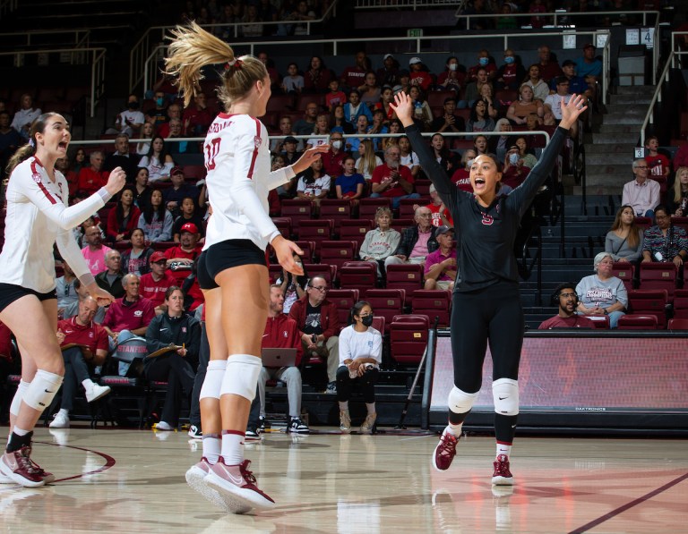
[[[9,326],[22,352],[22,382],[10,407],[11,434],[0,457],[0,482],[26,487],[55,479],[30,458],[31,436],[40,414],[62,384],[64,361],[56,338],[57,300],[53,245],[72,267],[91,296],[113,300],[99,288],[71,229],[105,206],[125,185],[117,167],[107,185],[68,208],[69,188],[55,162],[65,157],[71,140],[60,114],[39,116],[31,125],[30,142],[7,165],[7,215],[0,253],[0,320]]]

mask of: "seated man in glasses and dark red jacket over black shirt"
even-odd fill
[[[297,321],[306,357],[319,356],[327,361],[325,393],[335,394],[340,362],[340,319],[337,307],[327,300],[328,291],[327,280],[323,276],[313,276],[306,287],[306,294],[291,306],[289,318]]]

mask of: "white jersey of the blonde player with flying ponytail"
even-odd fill
[[[280,232],[268,216],[268,192],[294,177],[271,172],[268,131],[247,114],[220,113],[203,144],[211,203],[203,250],[228,239],[249,239],[262,250]]]

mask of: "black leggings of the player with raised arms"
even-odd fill
[[[454,292],[454,385],[465,393],[480,390],[488,341],[493,381],[499,378],[517,380],[523,327],[518,284],[499,282],[474,292]]]

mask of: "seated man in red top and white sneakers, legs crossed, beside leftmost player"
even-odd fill
[[[78,384],[86,392],[86,401],[92,403],[110,393],[108,386],[100,386],[91,380],[94,366],[105,363],[107,357],[107,332],[94,322],[98,302],[90,296],[79,302],[79,313],[57,323],[57,342],[64,359],[64,382],[60,411],[50,421],[50,428],[69,428],[69,412],[74,405]]]

